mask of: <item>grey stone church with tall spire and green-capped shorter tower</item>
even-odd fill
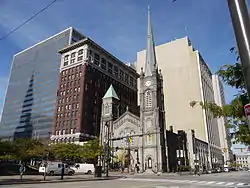
[[[148,12],[146,64],[140,73],[140,113],[127,111],[117,119],[119,97],[111,85],[102,104],[101,144],[108,144],[114,156],[125,154],[125,167],[139,166],[142,172],[167,171],[167,144],[164,110],[163,78],[158,70],[153,32]]]

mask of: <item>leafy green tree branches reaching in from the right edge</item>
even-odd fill
[[[230,51],[237,54],[235,48],[231,48]],[[239,60],[239,57],[237,57],[237,60]],[[229,136],[233,141],[249,145],[250,131],[244,113],[244,105],[248,103],[249,98],[244,84],[242,66],[239,62],[224,65],[217,71],[217,74],[226,85],[238,91],[234,99],[229,104],[222,107],[215,103],[199,101],[191,101],[190,106],[194,107],[198,104],[203,109],[211,111],[215,118],[226,117],[227,124],[225,126],[230,128],[231,132]]]

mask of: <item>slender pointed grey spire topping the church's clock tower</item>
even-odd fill
[[[156,68],[155,44],[151,25],[150,7],[148,6],[148,36],[146,49],[145,77],[151,76]]]

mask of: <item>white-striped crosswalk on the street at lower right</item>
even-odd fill
[[[123,178],[121,181],[143,181],[143,182],[160,182],[160,183],[178,183],[178,184],[196,184],[201,186],[222,186],[222,187],[240,187],[249,185],[247,183],[239,182],[219,182],[219,181],[199,181],[199,180],[176,180],[176,179],[144,179],[144,178]]]

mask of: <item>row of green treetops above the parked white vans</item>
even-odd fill
[[[73,143],[44,144],[38,140],[18,139],[0,141],[0,159],[28,162],[30,159],[96,162],[103,152],[99,139],[87,141],[83,146]]]

